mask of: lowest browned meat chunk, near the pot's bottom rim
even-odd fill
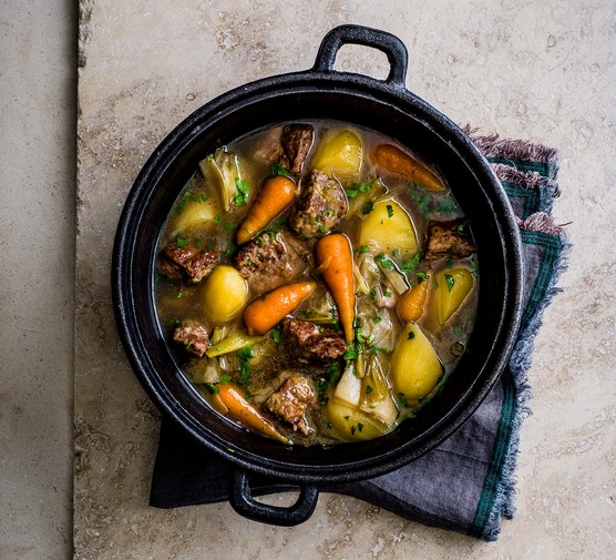
[[[317,404],[317,391],[310,379],[300,374],[287,378],[284,385],[266,401],[266,408],[291,424],[294,430],[309,435],[312,428],[306,422],[306,413]]]

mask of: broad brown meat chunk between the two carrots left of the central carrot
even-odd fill
[[[309,254],[308,245],[289,232],[264,233],[239,248],[235,266],[263,294],[301,274]]]

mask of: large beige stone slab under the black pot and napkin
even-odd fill
[[[228,505],[147,507],[158,415],[127,365],[110,295],[122,204],[182,119],[229,88],[311,67],[322,35],[342,22],[399,35],[409,89],[458,123],[561,153],[555,214],[571,222],[574,248],[530,371],[519,511],[495,543],[336,495],[291,529],[247,521]],[[615,34],[609,0],[82,0],[75,558],[614,558]],[[388,69],[361,48],[345,48],[337,68]]]

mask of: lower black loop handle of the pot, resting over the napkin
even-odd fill
[[[229,502],[235,511],[253,521],[294,527],[310,518],[317,507],[319,497],[319,490],[316,486],[300,485],[299,488],[299,498],[292,506],[288,508],[268,506],[253,498],[248,472],[236,469],[230,480]]]

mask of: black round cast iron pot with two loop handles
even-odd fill
[[[384,81],[333,71],[346,43],[384,52]],[[129,194],[113,253],[116,322],[135,374],[152,400],[194,439],[235,469],[232,506],[245,517],[291,526],[310,517],[319,485],[383,475],[419,458],[455,431],[503,370],[515,339],[522,296],[521,242],[509,201],[487,162],[446,116],[404,86],[407,50],[396,37],[342,26],[324,39],[305,72],[266,78],[197,109],[155,150]],[[438,399],[417,419],[368,442],[288,448],[238,428],[204,406],[181,374],[154,307],[154,265],[161,228],[204,154],[255,129],[285,121],[336,119],[384,133],[434,163],[472,223],[481,289],[468,353]],[[253,499],[249,475],[300,488],[290,508]]]

